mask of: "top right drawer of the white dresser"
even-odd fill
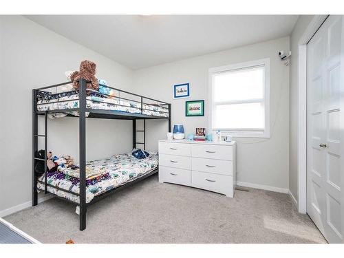
[[[233,147],[211,144],[191,144],[191,155],[195,158],[233,160]]]

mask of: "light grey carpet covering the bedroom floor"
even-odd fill
[[[89,206],[53,198],[5,219],[43,243],[326,243],[289,195],[257,189],[235,197],[147,178]]]

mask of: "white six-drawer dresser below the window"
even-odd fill
[[[159,182],[184,184],[233,197],[235,142],[159,141]]]

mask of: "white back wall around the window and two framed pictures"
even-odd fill
[[[289,37],[197,56],[183,61],[136,70],[133,90],[172,104],[172,124],[184,124],[186,134],[195,127],[208,127],[208,69],[233,63],[270,58],[269,139],[237,138],[237,180],[250,184],[288,189],[289,182],[289,67],[277,52],[289,51]],[[191,84],[191,98],[205,100],[205,116],[185,116],[186,99],[173,99],[173,85]],[[158,125],[151,127],[152,124]],[[157,149],[158,139],[166,138],[166,123],[147,122],[148,149]]]

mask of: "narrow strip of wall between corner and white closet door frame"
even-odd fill
[[[289,141],[289,189],[295,199],[298,200],[298,114],[299,114],[299,83],[298,83],[298,60],[299,60],[299,40],[305,29],[312,21],[314,15],[300,15],[294,30],[290,35],[290,47],[292,56],[290,60],[290,141]]]

